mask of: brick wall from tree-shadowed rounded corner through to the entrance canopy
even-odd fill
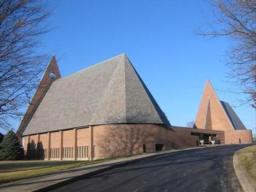
[[[96,157],[128,156],[143,152],[155,152],[156,144],[164,144],[163,150],[197,146],[199,136],[191,132],[217,134],[224,140],[224,131],[189,129],[172,127],[166,129],[161,125],[128,124],[128,125],[99,125],[94,126],[94,145]]]

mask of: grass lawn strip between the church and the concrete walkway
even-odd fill
[[[67,168],[75,168],[87,164],[103,162],[94,161],[44,161],[44,160],[24,160],[24,161],[0,161],[0,184],[28,179],[30,177],[57,172]]]

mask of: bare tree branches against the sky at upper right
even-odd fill
[[[256,1],[216,0],[214,15],[217,24],[208,23],[210,30],[196,32],[202,36],[228,36],[232,39],[226,54],[230,67],[228,77],[238,88],[236,94],[246,94],[242,104],[256,107]]]

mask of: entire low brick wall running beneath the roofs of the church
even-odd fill
[[[251,130],[215,131],[152,124],[113,124],[27,135],[23,137],[23,144],[30,158],[92,160],[193,147],[197,146],[200,133],[216,135],[222,143],[252,142]]]

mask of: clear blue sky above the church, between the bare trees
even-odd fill
[[[172,125],[195,119],[207,78],[220,100],[239,104],[237,95],[222,91],[231,88],[224,65],[229,41],[194,35],[205,15],[214,19],[207,2],[61,0],[50,5],[55,10],[49,24],[55,29],[44,36],[42,51],[56,55],[63,76],[125,53]],[[234,110],[247,129],[255,127],[253,108]]]

